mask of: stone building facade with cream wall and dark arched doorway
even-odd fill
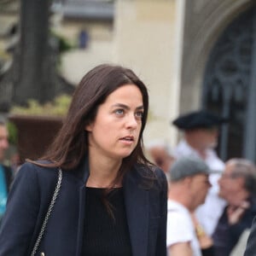
[[[218,148],[223,159],[255,160],[255,1],[118,3],[118,61],[137,69],[148,82],[153,119],[146,140],[164,137],[174,145],[178,134],[170,121],[179,113],[207,108],[230,118]],[[242,111],[235,112],[241,102]]]

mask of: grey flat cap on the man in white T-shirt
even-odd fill
[[[196,174],[210,174],[212,171],[207,164],[197,157],[182,157],[177,159],[169,170],[171,181],[178,181]]]

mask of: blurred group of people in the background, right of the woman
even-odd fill
[[[183,131],[177,147],[148,147],[156,165],[168,163],[162,169],[169,178],[167,248],[172,256],[230,256],[243,232],[252,227],[256,166],[243,158],[224,162],[215,151],[219,127],[227,121],[203,110],[185,113],[172,121]],[[247,255],[253,255],[253,238],[248,245]]]

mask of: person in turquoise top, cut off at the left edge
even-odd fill
[[[5,212],[9,187],[12,182],[12,171],[3,165],[4,153],[9,148],[8,129],[6,123],[0,119],[0,222]]]

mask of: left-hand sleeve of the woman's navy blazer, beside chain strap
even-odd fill
[[[25,164],[9,192],[0,228],[0,255],[25,256],[32,240],[40,205],[37,172]]]

